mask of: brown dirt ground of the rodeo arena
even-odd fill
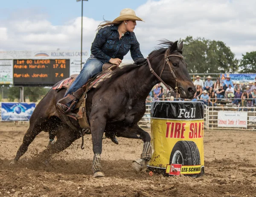
[[[48,144],[42,132],[15,165],[28,124],[0,123],[0,196],[2,197],[256,197],[256,132],[205,130],[205,175],[163,177],[137,173],[132,160],[140,157],[140,140],[103,140],[104,178],[92,177],[92,142],[86,135],[54,155],[49,164],[33,159]],[[148,130],[148,132],[150,132]]]

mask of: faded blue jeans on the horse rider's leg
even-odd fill
[[[76,80],[73,82],[69,91],[64,95],[64,97],[66,97],[67,94],[72,94],[73,92],[77,91],[90,78],[95,77],[96,74],[100,73],[102,71],[103,64],[103,62],[94,57],[88,58],[80,74],[76,77]]]

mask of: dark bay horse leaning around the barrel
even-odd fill
[[[92,134],[95,177],[104,176],[100,156],[104,132],[112,132],[118,137],[143,140],[143,153],[136,162],[142,166],[151,159],[151,137],[137,123],[145,113],[146,97],[155,84],[161,81],[172,89],[176,88],[181,98],[193,98],[195,86],[181,55],[183,43],[178,46],[177,41],[173,43],[165,40],[162,44],[167,48],[161,47],[152,51],[148,61],[116,69],[99,87],[87,92],[86,114]],[[50,89],[38,103],[13,162],[19,160],[41,131],[51,132],[57,137],[56,142],[41,153],[46,158],[64,150],[81,137],[79,123],[71,120],[77,129],[70,128],[65,123],[64,114],[55,107],[57,101],[63,98],[65,91],[66,89]]]

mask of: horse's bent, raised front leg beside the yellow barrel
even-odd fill
[[[146,168],[146,163],[151,160],[152,147],[150,144],[151,137],[148,132],[144,131],[137,124],[129,127],[125,127],[118,133],[116,133],[117,137],[126,137],[126,138],[134,138],[143,140],[143,151],[140,156],[140,159],[133,161],[133,167],[135,170],[140,171],[143,168]]]

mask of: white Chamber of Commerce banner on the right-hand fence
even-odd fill
[[[218,127],[247,128],[247,112],[218,111]]]

